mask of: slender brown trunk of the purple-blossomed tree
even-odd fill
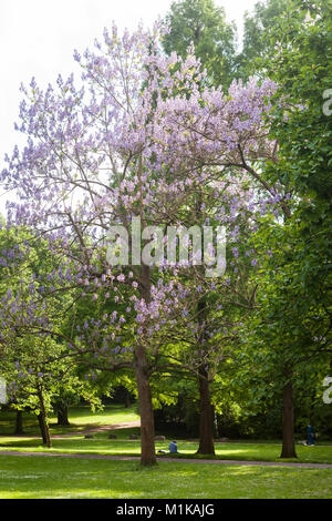
[[[151,302],[149,267],[142,266],[141,297],[148,304]],[[138,405],[141,416],[141,463],[152,466],[157,463],[155,449],[155,425],[149,386],[148,361],[143,345],[135,349],[135,374],[138,390]]]

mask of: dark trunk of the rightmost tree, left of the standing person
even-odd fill
[[[294,440],[294,396],[291,381],[286,384],[282,398],[282,451],[280,458],[298,458]]]

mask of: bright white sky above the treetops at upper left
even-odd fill
[[[242,17],[257,0],[215,0],[241,33]],[[172,0],[0,0],[0,167],[4,153],[23,143],[13,130],[18,121],[20,84],[35,76],[40,85],[58,74],[80,75],[73,51],[92,47],[114,20],[120,29],[152,25],[164,17]],[[8,195],[0,186],[0,212]]]

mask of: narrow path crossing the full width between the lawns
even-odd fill
[[[103,460],[139,461],[139,456],[111,456],[111,454],[69,454],[65,452],[33,452],[18,450],[0,450],[0,456],[41,456],[46,458],[83,458]],[[185,458],[157,458],[158,461],[181,462],[181,463],[210,463],[210,464],[238,464],[252,467],[289,467],[297,469],[332,469],[329,463],[288,463],[281,461],[240,461],[240,460],[204,460]]]

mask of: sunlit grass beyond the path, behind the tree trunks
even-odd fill
[[[1,450],[19,451],[48,451],[66,453],[96,453],[96,454],[122,454],[139,456],[139,440],[129,440],[131,433],[139,436],[139,428],[116,429],[112,433],[117,439],[110,440],[110,431],[94,433],[93,439],[84,439],[82,430],[103,425],[115,425],[121,422],[136,421],[139,417],[135,406],[125,409],[122,405],[106,406],[104,410],[92,412],[89,407],[74,407],[70,410],[69,427],[59,428],[55,425],[55,418],[51,418],[51,435],[66,435],[74,432],[73,436],[65,439],[52,439],[52,448],[46,449],[41,445],[40,432],[33,415],[24,413],[24,431],[29,436],[35,436],[35,439],[24,437],[6,436],[13,431],[14,412],[0,413],[0,453]],[[4,436],[1,436],[4,435]],[[169,440],[156,442],[156,450],[168,448]],[[197,441],[178,440],[179,458],[201,458],[196,456],[198,448]],[[248,460],[248,461],[281,461],[281,441],[238,441],[218,443],[216,442],[215,459]],[[332,463],[332,446],[303,447],[297,446],[297,462],[312,463]],[[162,454],[160,454],[162,456]],[[165,456],[167,457],[167,456]],[[292,460],[287,460],[292,461]]]

